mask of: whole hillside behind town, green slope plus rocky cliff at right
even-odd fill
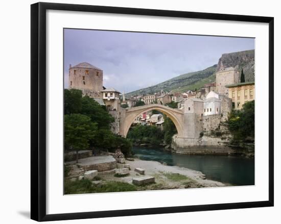
[[[246,82],[254,82],[254,50],[223,54],[216,65],[204,70],[181,74],[157,85],[126,93],[126,97],[152,94],[161,89],[172,92],[200,89],[204,84],[215,82],[216,71],[227,67],[237,67],[240,71],[243,68]]]

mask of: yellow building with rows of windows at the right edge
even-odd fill
[[[242,109],[242,106],[254,100],[254,82],[237,83],[226,85],[228,88],[228,97],[232,99],[232,108],[235,110]]]

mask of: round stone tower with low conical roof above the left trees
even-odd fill
[[[80,89],[83,95],[102,98],[103,70],[87,62],[69,65],[69,89]]]

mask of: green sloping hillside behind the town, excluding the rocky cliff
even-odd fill
[[[212,67],[208,67],[201,71],[181,74],[180,76],[159,83],[157,85],[127,93],[126,97],[138,94],[151,94],[159,92],[161,89],[163,89],[164,91],[185,91],[181,89],[197,83],[199,84],[199,82],[201,84],[199,84],[198,88],[200,88],[205,83],[209,83],[208,77],[212,76],[212,74],[216,72],[216,67],[217,65],[213,65]],[[205,81],[205,83],[202,84],[202,81]]]

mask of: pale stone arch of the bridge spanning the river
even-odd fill
[[[120,134],[124,137],[127,136],[128,131],[137,116],[142,113],[157,110],[165,115],[167,115],[175,124],[178,136],[181,137],[183,133],[183,112],[178,109],[173,109],[160,104],[150,104],[145,106],[133,107],[129,109],[124,109],[123,116],[120,123]]]

